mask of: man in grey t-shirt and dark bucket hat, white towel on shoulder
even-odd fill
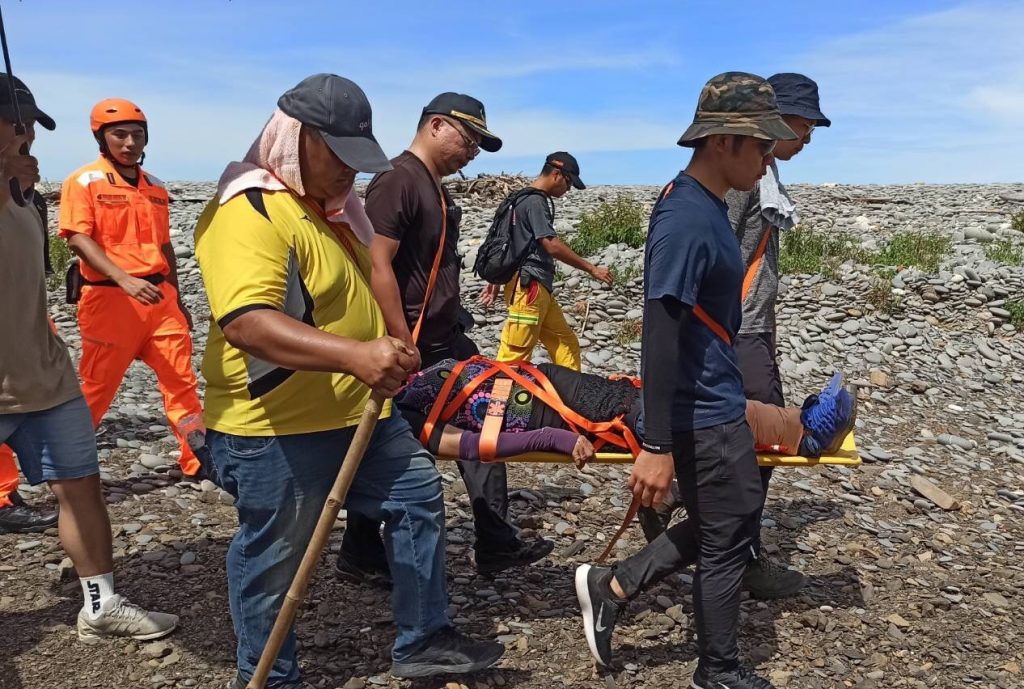
[[[782,118],[799,137],[793,141],[779,141],[775,145],[775,160],[788,161],[810,142],[815,127],[827,127],[831,122],[821,113],[818,86],[813,80],[800,74],[777,74],[769,77],[768,83],[775,90]],[[743,393],[748,399],[784,406],[782,379],[775,357],[779,231],[791,229],[800,216],[779,181],[778,167],[774,162],[753,189],[730,191],[725,201],[745,266],[743,319],[738,335],[732,341],[743,376]],[[765,497],[771,474],[771,467],[761,468]],[[796,594],[805,584],[804,575],[768,562],[760,547],[760,513],[754,524],[758,532],[754,535],[754,557],[743,575],[744,587],[758,598],[782,598]]]

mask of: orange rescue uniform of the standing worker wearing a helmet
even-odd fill
[[[60,236],[88,235],[128,274],[159,282],[164,295],[150,305],[117,286],[89,285],[108,278],[82,261],[82,277],[88,282],[78,304],[79,378],[92,423],[98,426],[128,367],[133,359],[142,359],[157,375],[167,419],[181,446],[178,462],[191,476],[200,465],[185,437],[202,428],[203,410],[188,324],[178,306],[177,290],[165,279],[170,266],[162,248],[171,242],[167,189],[141,167],[138,172],[135,187],[100,157],[72,173],[60,189]]]

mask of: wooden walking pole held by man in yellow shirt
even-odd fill
[[[281,652],[281,647],[285,643],[285,637],[288,636],[288,632],[295,621],[295,613],[299,609],[299,603],[306,597],[309,580],[312,578],[313,572],[316,571],[321,554],[324,552],[324,547],[327,546],[328,539],[331,537],[331,529],[334,528],[338,512],[345,504],[348,488],[352,485],[352,479],[362,461],[362,455],[367,451],[367,445],[370,444],[370,436],[377,426],[377,419],[381,415],[383,405],[383,395],[376,392],[370,395],[367,406],[362,410],[359,425],[355,427],[352,442],[349,443],[348,451],[345,453],[345,459],[341,463],[341,469],[338,470],[338,477],[334,479],[334,486],[324,504],[324,511],[321,512],[319,521],[316,522],[316,529],[313,531],[309,545],[306,546],[306,553],[302,556],[302,562],[299,564],[298,571],[295,572],[292,586],[285,595],[285,602],[281,606],[281,611],[278,612],[273,629],[270,630],[270,638],[267,639],[266,646],[263,647],[263,653],[259,656],[259,664],[256,665],[253,679],[249,680],[246,689],[263,689],[266,684],[266,678],[270,674],[273,661],[278,659],[278,653]]]

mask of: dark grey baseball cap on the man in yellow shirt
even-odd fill
[[[314,74],[286,91],[278,107],[316,129],[334,155],[353,170],[391,169],[374,138],[370,100],[355,82],[334,74]]]

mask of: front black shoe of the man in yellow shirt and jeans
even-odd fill
[[[497,641],[475,641],[451,627],[443,627],[408,658],[393,661],[391,674],[401,679],[468,675],[489,668],[504,654],[505,647]]]

